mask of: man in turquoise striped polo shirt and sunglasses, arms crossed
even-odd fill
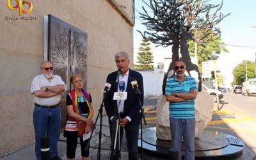
[[[175,76],[167,79],[166,100],[170,102],[170,129],[172,150],[179,152],[181,160],[182,137],[185,160],[195,159],[195,99],[198,93],[196,80],[184,74],[184,61],[175,62]]]

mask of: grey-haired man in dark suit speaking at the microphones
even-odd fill
[[[129,66],[129,54],[127,52],[118,52],[115,54],[116,67],[118,71],[112,72],[107,77],[107,83],[111,84],[109,92],[106,94],[104,101],[106,112],[109,117],[109,127],[111,133],[112,148],[115,145],[115,124],[116,118],[120,120],[120,144],[122,144],[122,136],[125,129],[127,138],[127,147],[129,152],[129,159],[138,159],[138,134],[140,128],[140,101],[143,106],[143,78],[139,72],[131,70]],[[131,82],[137,81],[138,89],[141,94],[135,92],[132,88]],[[120,92],[118,83],[124,84],[123,92],[127,92],[126,100],[113,100],[114,92]],[[121,91],[122,92],[122,91]],[[138,97],[139,96],[139,97]],[[140,98],[140,101],[139,101]],[[120,113],[120,114],[118,114]],[[116,143],[118,149],[118,143]],[[120,153],[111,153],[111,159],[118,159]]]

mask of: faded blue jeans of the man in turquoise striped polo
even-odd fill
[[[182,136],[185,145],[185,160],[195,160],[195,118],[177,119],[170,117],[172,148],[179,151],[181,160]]]

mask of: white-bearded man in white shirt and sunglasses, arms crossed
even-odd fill
[[[58,157],[58,140],[60,138],[61,92],[65,90],[65,83],[60,76],[52,74],[52,64],[49,61],[41,63],[42,74],[34,77],[31,83],[31,94],[34,95],[35,108],[33,123],[35,129],[36,159],[41,159],[40,140],[49,134],[50,159]]]

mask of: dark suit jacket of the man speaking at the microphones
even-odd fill
[[[115,112],[115,103],[116,100],[113,100],[114,92],[117,92],[118,84],[116,84],[117,71],[112,72],[107,77],[107,83],[111,84],[111,88],[108,93],[106,93],[106,98],[104,100],[105,109],[108,114],[108,117],[114,116]],[[143,106],[144,92],[143,92],[143,78],[139,72],[129,69],[129,76],[127,81],[127,99],[124,102],[124,113],[122,116],[129,116],[131,118],[131,124],[140,124],[140,102],[138,100],[138,95],[136,95],[135,90],[132,89],[131,81],[136,79],[138,82],[138,89],[141,92],[140,100],[141,106]],[[116,108],[117,111],[117,108]],[[110,120],[109,120],[110,123]]]

